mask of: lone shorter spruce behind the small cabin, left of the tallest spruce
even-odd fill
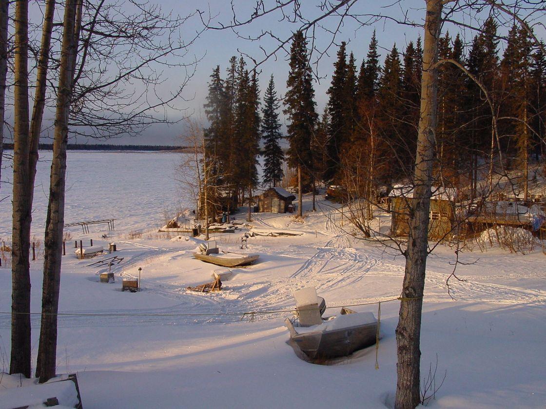
[[[265,186],[274,187],[282,180],[282,163],[284,154],[279,141],[282,138],[281,123],[278,120],[278,109],[280,107],[275,91],[273,75],[269,80],[268,88],[265,90],[264,108],[262,110],[262,134],[264,138],[264,178]]]

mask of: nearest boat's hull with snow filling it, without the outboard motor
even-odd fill
[[[284,323],[290,339],[310,359],[346,357],[376,343],[377,319],[371,312],[342,308],[341,315],[310,327],[289,318]]]

